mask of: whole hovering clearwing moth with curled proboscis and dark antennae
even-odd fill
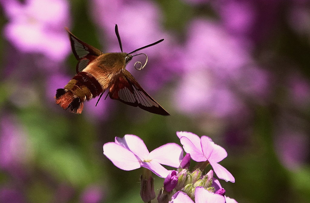
[[[103,53],[99,49],[82,42],[75,37],[68,28],[72,52],[78,60],[76,66],[77,74],[64,86],[56,91],[56,104],[63,109],[69,109],[70,112],[80,114],[83,110],[83,102],[89,101],[100,95],[97,104],[104,91],[109,88],[108,95],[111,99],[121,101],[130,106],[139,106],[141,109],[159,115],[169,115],[152,97],[144,91],[137,80],[126,70],[126,65],[131,61],[132,53],[138,52],[144,48],[151,47],[162,42],[164,39],[155,43],[136,49],[133,52],[123,52],[121,38],[115,25],[115,33],[121,48],[121,52]],[[141,70],[148,61],[146,54],[144,65],[140,61],[141,67],[135,69]],[[107,96],[108,96],[107,95]],[[97,106],[96,104],[96,106]]]

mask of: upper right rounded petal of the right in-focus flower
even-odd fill
[[[215,144],[209,137],[201,137],[201,148],[208,161],[220,162],[227,156],[226,150]]]

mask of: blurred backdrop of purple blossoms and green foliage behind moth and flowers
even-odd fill
[[[0,202],[142,202],[140,170],[104,155],[135,134],[151,151],[176,131],[224,147],[221,181],[239,203],[310,202],[307,0],[0,0]],[[103,52],[165,40],[127,70],[171,116],[97,99],[55,104],[77,64],[68,27]],[[141,51],[142,52],[142,51]],[[106,92],[107,93],[107,92]],[[211,169],[210,166],[207,168]],[[155,190],[163,179],[155,178]]]

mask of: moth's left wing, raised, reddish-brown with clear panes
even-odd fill
[[[75,58],[78,60],[76,71],[77,73],[82,72],[83,69],[91,63],[91,61],[102,55],[103,52],[89,44],[86,44],[85,42],[82,42],[80,39],[74,36],[68,28],[65,29],[69,33],[72,52]]]

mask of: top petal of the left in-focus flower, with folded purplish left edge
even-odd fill
[[[136,135],[125,135],[123,138],[115,137],[115,143],[118,143],[126,149],[132,151],[143,161],[147,158],[149,152],[143,140]]]

